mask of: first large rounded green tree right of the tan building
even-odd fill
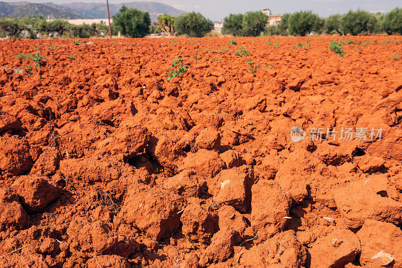
[[[310,32],[317,30],[316,26],[320,22],[317,14],[311,11],[299,11],[291,14],[288,19],[288,27],[291,35],[305,36]]]

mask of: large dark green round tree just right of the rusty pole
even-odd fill
[[[144,37],[149,34],[151,19],[148,12],[143,12],[136,8],[123,6],[119,12],[113,16],[113,24],[117,31],[124,36]]]

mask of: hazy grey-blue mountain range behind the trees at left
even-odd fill
[[[115,15],[121,7],[137,8],[148,11],[152,21],[157,21],[161,14],[179,16],[185,11],[158,2],[129,2],[123,4],[110,4],[110,15]],[[63,19],[105,19],[108,17],[106,4],[102,3],[69,3],[57,5],[53,3],[32,4],[29,2],[0,2],[0,16],[24,17],[26,15],[42,14],[45,17]]]

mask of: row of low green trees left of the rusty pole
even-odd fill
[[[10,35],[14,38],[39,38],[43,36],[68,35],[70,37],[88,38],[102,36],[108,33],[108,26],[104,23],[72,25],[66,20],[56,19],[46,21],[42,15],[26,16],[24,18],[0,18],[0,36]]]

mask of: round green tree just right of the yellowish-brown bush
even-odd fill
[[[214,29],[214,23],[200,13],[184,13],[174,20],[174,29],[179,35],[203,37]]]

